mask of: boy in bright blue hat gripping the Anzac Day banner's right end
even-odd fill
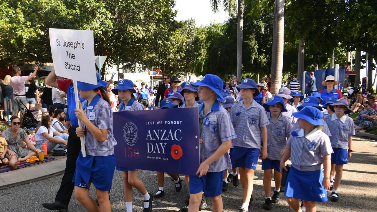
[[[211,198],[213,212],[222,212],[222,177],[225,169],[231,169],[227,151],[231,147],[231,140],[237,138],[228,112],[216,100],[223,100],[220,93],[222,84],[222,80],[212,74],[192,84],[199,86],[199,98],[204,103],[199,106],[201,164],[196,175],[190,176],[189,212],[199,210],[203,192]]]

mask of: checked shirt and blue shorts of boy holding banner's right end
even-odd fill
[[[224,141],[237,138],[231,124],[228,112],[219,104],[213,103],[211,110],[203,113],[204,104],[199,107],[199,131],[203,142],[200,144],[200,163],[211,157]],[[189,188],[190,194],[204,192],[206,197],[217,197],[222,193],[222,178],[225,169],[231,169],[229,154],[226,152],[215,162],[211,163],[206,175],[199,177],[191,175]]]

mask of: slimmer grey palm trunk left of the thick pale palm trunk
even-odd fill
[[[242,80],[242,40],[244,35],[244,0],[238,0],[237,22],[237,80]]]

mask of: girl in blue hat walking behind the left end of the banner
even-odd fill
[[[133,82],[131,80],[120,80],[118,82],[118,87],[111,90],[115,95],[123,101],[119,105],[119,111],[143,111],[143,104],[135,101],[136,93],[133,89]],[[116,170],[123,172],[123,190],[124,198],[126,199],[126,210],[127,212],[132,212],[132,187],[135,187],[141,195],[143,195],[144,200],[144,212],[152,211],[152,201],[153,195],[147,192],[143,182],[138,179],[137,169],[116,167]]]

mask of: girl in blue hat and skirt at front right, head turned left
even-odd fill
[[[331,143],[322,132],[322,112],[308,106],[293,113],[298,118],[299,130],[293,131],[287,141],[289,151],[282,155],[280,171],[285,161],[291,157],[292,165],[285,183],[285,196],[289,206],[301,211],[299,199],[303,200],[306,211],[316,211],[316,202],[327,201],[327,191],[331,187]],[[322,169],[323,164],[323,169]]]

